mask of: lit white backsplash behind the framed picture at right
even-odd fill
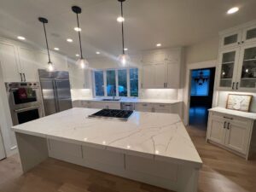
[[[244,92],[230,92],[230,91],[218,91],[218,106],[225,108],[229,94],[237,95],[253,95],[253,101],[251,103],[250,111],[256,113],[256,93],[244,93]]]

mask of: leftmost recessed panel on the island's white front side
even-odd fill
[[[51,154],[61,154],[63,156],[73,156],[82,158],[81,145],[74,143],[61,142],[49,139],[49,151]]]

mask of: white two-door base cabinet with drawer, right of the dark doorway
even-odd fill
[[[253,119],[210,111],[207,141],[248,159],[253,126]]]

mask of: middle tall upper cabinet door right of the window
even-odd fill
[[[154,65],[154,88],[165,88],[166,63]]]

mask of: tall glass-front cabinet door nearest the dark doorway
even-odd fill
[[[239,50],[240,48],[235,48],[220,52],[218,61],[219,90],[235,90]]]

